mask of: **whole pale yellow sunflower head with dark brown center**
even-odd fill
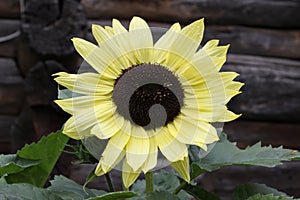
[[[55,102],[70,117],[63,133],[74,139],[96,136],[108,143],[96,175],[119,162],[128,188],[141,172],[153,170],[159,152],[190,181],[188,145],[203,150],[219,140],[213,122],[239,115],[227,102],[243,85],[234,72],[219,72],[229,45],[218,40],[199,48],[203,19],[181,28],[175,23],[154,44],[148,24],[133,17],[129,30],[92,26],[98,43],[73,38],[75,49],[95,72],[59,72],[55,80],[81,95]]]

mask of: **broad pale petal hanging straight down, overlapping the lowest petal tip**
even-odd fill
[[[138,136],[139,133],[141,136]],[[132,135],[126,145],[127,163],[133,170],[139,169],[147,160],[149,154],[149,138],[146,131],[140,126],[132,126]]]

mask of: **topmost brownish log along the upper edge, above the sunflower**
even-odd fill
[[[151,21],[189,23],[205,17],[208,24],[240,24],[276,28],[299,28],[297,0],[82,0],[88,18],[129,19],[134,15]],[[292,19],[292,20],[291,20]]]

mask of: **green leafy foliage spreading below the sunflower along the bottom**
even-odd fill
[[[202,150],[190,146],[190,176],[192,179],[200,174],[218,170],[230,165],[257,165],[274,167],[282,161],[300,159],[297,151],[282,147],[262,147],[260,143],[244,150],[230,142],[225,133],[221,140],[211,148],[206,156]],[[43,137],[39,142],[25,145],[16,154],[0,155],[0,199],[53,199],[53,200],[113,200],[133,198],[136,200],[156,199],[197,199],[219,200],[215,194],[195,183],[188,184],[170,171],[154,174],[154,191],[145,195],[145,180],[138,180],[131,191],[107,193],[103,190],[84,188],[64,176],[55,176],[50,181],[51,186],[42,188],[57,162],[65,146],[71,147],[71,153],[80,163],[93,164],[97,162],[85,149],[81,142],[67,145],[68,137],[60,131]],[[96,176],[89,174],[86,183]],[[236,187],[234,200],[289,200],[285,193],[263,184],[244,184]]]

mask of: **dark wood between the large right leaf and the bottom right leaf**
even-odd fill
[[[212,173],[206,173],[198,181],[204,188],[222,197],[233,199],[233,190],[245,183],[263,183],[279,191],[300,196],[300,162],[289,162],[275,168],[265,167],[226,167]]]

